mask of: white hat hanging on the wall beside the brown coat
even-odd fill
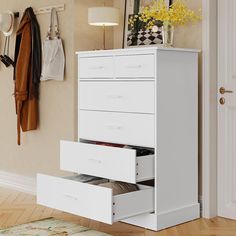
[[[0,14],[0,31],[2,31],[5,36],[12,35],[14,29],[14,19],[14,13],[11,11]]]

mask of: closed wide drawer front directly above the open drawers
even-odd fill
[[[154,147],[154,115],[80,110],[82,139]]]

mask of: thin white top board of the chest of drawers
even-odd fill
[[[122,53],[150,53],[154,51],[179,51],[179,52],[192,52],[192,53],[199,53],[200,50],[198,49],[190,49],[190,48],[174,48],[174,47],[163,47],[163,46],[147,46],[147,47],[132,47],[132,48],[124,48],[124,49],[109,49],[109,50],[93,50],[93,51],[77,51],[76,54],[78,55],[87,55],[87,54],[94,54],[94,55],[104,55],[104,54],[122,54]]]

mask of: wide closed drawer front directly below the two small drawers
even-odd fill
[[[80,109],[154,113],[155,83],[146,82],[81,82]]]

